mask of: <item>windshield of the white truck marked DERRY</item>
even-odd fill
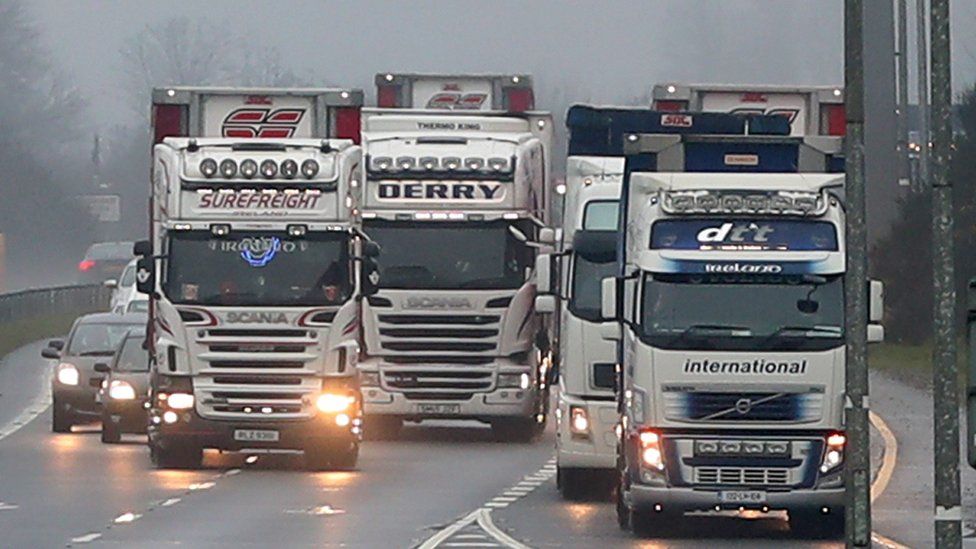
[[[364,230],[382,249],[382,288],[494,290],[520,287],[532,265],[531,248],[508,228],[507,221],[376,221]]]

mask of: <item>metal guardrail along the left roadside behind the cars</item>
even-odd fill
[[[112,290],[101,284],[0,294],[0,325],[46,315],[107,311]]]

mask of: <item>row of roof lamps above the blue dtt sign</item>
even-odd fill
[[[657,198],[652,198],[654,203]],[[836,198],[830,199],[836,205]],[[771,215],[823,215],[827,211],[824,195],[792,191],[778,193],[738,193],[710,191],[670,191],[661,204],[664,211],[675,214],[749,213]]]

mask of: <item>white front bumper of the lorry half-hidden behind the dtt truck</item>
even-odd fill
[[[608,400],[584,400],[559,395],[559,418],[556,424],[556,458],[559,467],[613,469],[617,463],[617,403]],[[583,435],[571,428],[573,407],[583,408],[589,419],[589,431]]]

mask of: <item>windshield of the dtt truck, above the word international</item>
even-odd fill
[[[840,275],[644,276],[642,339],[696,350],[823,350],[844,339]]]

